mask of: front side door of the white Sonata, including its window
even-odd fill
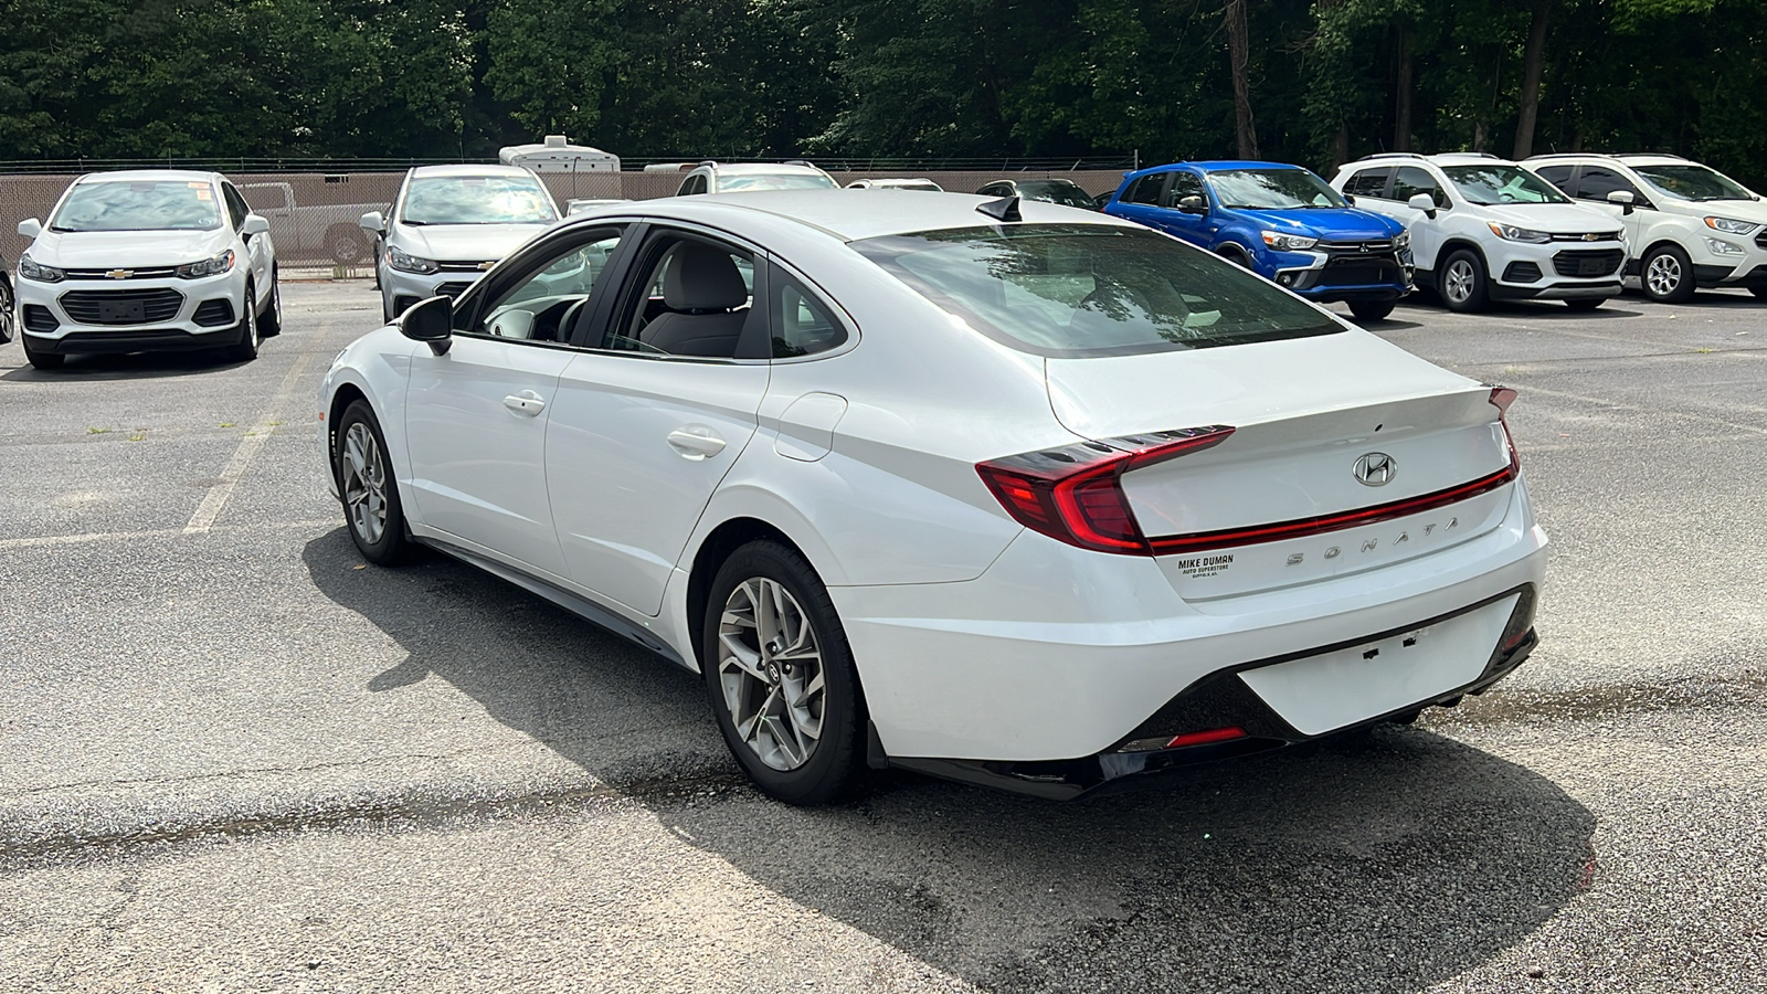
[[[410,361],[405,435],[419,520],[530,571],[565,577],[546,486],[558,375],[578,356],[624,226],[528,246],[461,302],[447,352]]]

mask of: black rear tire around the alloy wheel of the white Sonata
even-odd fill
[[[735,722],[724,704],[724,690],[717,674],[717,626],[724,601],[737,584],[765,577],[781,584],[809,616],[822,649],[823,681],[823,734],[816,753],[797,769],[772,769],[755,755],[755,750],[737,738]],[[864,752],[866,723],[864,699],[853,654],[846,644],[846,630],[829,600],[829,589],[797,550],[777,541],[751,541],[724,559],[717,568],[700,623],[700,646],[707,700],[724,736],[724,745],[762,792],[788,805],[822,805],[850,792],[859,780]]]

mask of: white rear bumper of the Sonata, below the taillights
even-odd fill
[[[1021,534],[961,584],[830,587],[882,750],[903,766],[1096,757],[1205,677],[1315,656],[1451,617],[1544,577],[1546,536],[1523,486],[1500,524],[1428,555],[1293,587],[1186,601],[1152,557],[1106,555]],[[1403,702],[1369,693],[1322,727],[1272,704],[1301,738],[1430,704],[1461,679]],[[1274,700],[1274,699],[1272,699]],[[1285,711],[1285,707],[1288,707]],[[1281,741],[1299,741],[1278,736]]]

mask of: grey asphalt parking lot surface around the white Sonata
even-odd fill
[[[1371,739],[1060,805],[751,791],[696,677],[366,566],[315,391],[0,347],[0,992],[1767,990],[1767,301],[1371,325],[1520,391],[1541,649]]]

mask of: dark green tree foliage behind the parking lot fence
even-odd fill
[[[1767,180],[1767,0],[7,0],[0,157],[1672,150]],[[1249,110],[1251,113],[1244,113]]]

